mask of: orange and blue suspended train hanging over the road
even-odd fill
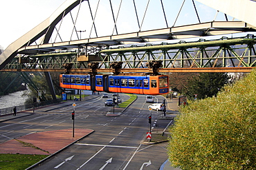
[[[84,89],[93,92],[115,92],[129,94],[167,94],[169,92],[166,75],[84,75],[60,74],[60,87],[66,89]]]

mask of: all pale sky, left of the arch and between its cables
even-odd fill
[[[0,0],[0,46],[6,49],[10,43],[19,39],[19,37],[26,34],[26,32],[32,30],[39,23],[42,23],[45,19],[51,16],[58,7],[62,5],[66,0]],[[97,6],[98,0],[90,1],[92,9]],[[158,3],[156,3],[158,2]],[[176,15],[179,13],[179,8],[182,5],[182,0],[163,0],[165,6],[165,13],[168,21],[168,27],[172,25],[187,25],[198,22],[196,13],[192,7],[192,1],[187,0],[184,3],[184,8],[181,10],[181,14],[175,22]],[[196,1],[195,1],[196,2]],[[83,3],[86,3],[85,1]],[[103,5],[98,9],[98,14],[95,16],[95,25],[97,27],[98,36],[107,36],[113,33],[114,30],[113,18],[111,16],[111,10],[109,10],[109,0],[101,0]],[[120,0],[112,0],[113,13],[117,14],[119,9]],[[147,0],[136,0],[136,8],[138,10],[138,18],[140,20],[141,30],[153,30],[156,28],[165,28],[166,23],[163,18],[163,12],[161,12],[161,3],[158,0],[151,0],[143,20],[144,11],[147,7]],[[196,2],[201,22],[212,21],[216,15],[216,10],[212,10],[207,6],[203,6],[201,3]],[[89,17],[89,9],[81,7],[81,11],[84,12],[84,16]],[[75,10],[71,11],[75,14]],[[81,13],[82,13],[81,12]],[[87,13],[86,13],[87,12]],[[95,11],[93,11],[94,14]],[[75,16],[75,15],[74,15]],[[69,22],[68,22],[69,17]],[[223,20],[223,14],[218,14],[217,19]],[[73,30],[71,24],[71,17],[67,15],[66,25],[63,23],[60,34],[62,36],[70,36]],[[232,17],[229,17],[232,20]],[[77,36],[82,38],[95,37],[95,32],[91,28],[91,18],[87,20],[83,17],[78,17],[77,21],[82,21],[78,24],[78,30],[86,30]],[[142,22],[143,21],[143,22]],[[132,23],[132,24],[131,24]],[[143,23],[143,24],[141,24]],[[134,12],[133,3],[131,0],[122,1],[122,6],[118,15],[118,34],[137,32],[139,30],[138,23],[136,21],[136,13]],[[64,29],[65,28],[65,29]],[[75,34],[72,34],[75,36]],[[71,37],[66,37],[71,39]]]

